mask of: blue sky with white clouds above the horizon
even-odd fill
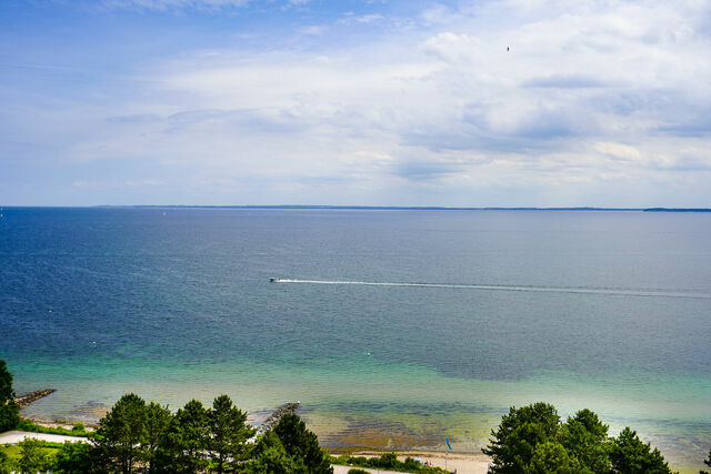
[[[711,1],[2,0],[0,205],[711,206]]]

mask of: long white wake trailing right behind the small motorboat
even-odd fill
[[[481,291],[520,291],[537,293],[580,293],[580,294],[607,294],[619,296],[651,296],[651,297],[690,297],[711,300],[709,293],[680,292],[680,291],[648,291],[623,290],[604,288],[564,288],[564,286],[528,286],[528,285],[490,285],[490,284],[457,284],[457,283],[404,283],[404,282],[362,282],[338,280],[298,280],[298,279],[269,279],[273,283],[304,283],[327,285],[364,285],[364,286],[404,286],[404,288],[434,288],[455,290]]]

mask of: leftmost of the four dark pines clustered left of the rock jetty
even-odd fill
[[[146,434],[146,402],[134,393],[121,396],[97,430],[96,448],[103,467],[133,472],[136,463],[144,457],[141,444]]]

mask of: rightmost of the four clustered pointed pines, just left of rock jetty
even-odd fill
[[[233,468],[244,460],[246,442],[254,434],[246,422],[247,413],[234,406],[229,396],[214,399],[209,414],[209,446],[218,473],[222,474],[226,468]]]

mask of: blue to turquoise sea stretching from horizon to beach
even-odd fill
[[[332,447],[478,452],[548,401],[677,468],[711,447],[711,214],[2,214],[0,359],[18,391],[58,389],[28,415],[227,393],[257,418],[300,401]]]

